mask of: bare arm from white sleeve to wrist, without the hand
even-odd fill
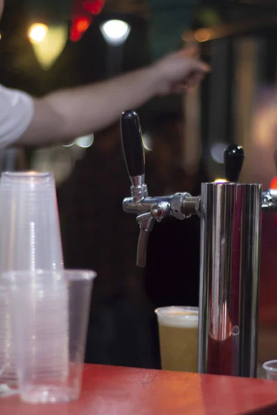
[[[148,101],[156,89],[154,71],[143,68],[106,82],[51,93],[35,101],[34,120],[19,142],[46,145],[94,133],[119,120],[125,109]]]

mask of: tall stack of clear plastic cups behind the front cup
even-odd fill
[[[63,268],[53,175],[3,173],[0,182],[0,273]],[[4,286],[0,288],[0,381],[12,382],[17,380],[15,341],[5,289]],[[66,307],[66,297],[62,307]]]

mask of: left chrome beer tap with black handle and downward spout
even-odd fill
[[[131,197],[123,200],[123,210],[136,214],[140,234],[136,255],[136,264],[145,266],[148,238],[155,222],[161,222],[167,216],[185,219],[199,208],[199,197],[188,192],[170,196],[148,196],[145,179],[145,155],[139,117],[134,111],[125,111],[120,120],[121,137],[125,163],[131,180]]]

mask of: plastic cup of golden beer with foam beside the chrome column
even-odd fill
[[[155,310],[159,324],[161,369],[197,372],[197,307],[169,306]]]

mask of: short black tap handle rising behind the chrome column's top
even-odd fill
[[[243,148],[239,145],[229,145],[224,150],[225,178],[230,182],[237,182],[240,177],[244,160]]]

